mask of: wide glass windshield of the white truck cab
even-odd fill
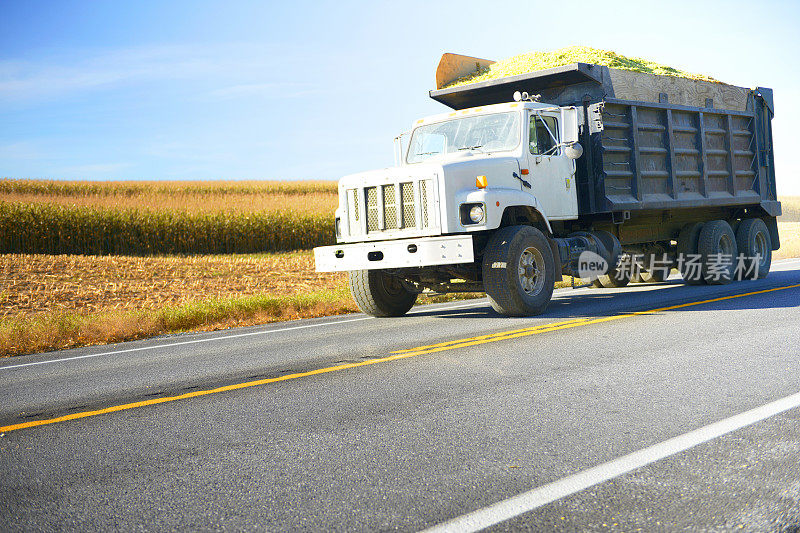
[[[474,115],[420,126],[411,134],[406,163],[454,152],[505,152],[519,144],[519,113]]]

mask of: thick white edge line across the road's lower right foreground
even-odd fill
[[[426,533],[475,532],[800,406],[800,392],[467,513]]]

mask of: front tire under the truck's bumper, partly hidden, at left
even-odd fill
[[[417,301],[416,292],[383,270],[350,272],[350,292],[361,311],[376,317],[403,316]]]

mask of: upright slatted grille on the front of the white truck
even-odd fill
[[[350,235],[426,229],[433,220],[433,180],[348,189]]]

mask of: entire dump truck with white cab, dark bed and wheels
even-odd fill
[[[314,249],[316,268],[349,272],[362,311],[474,291],[536,315],[562,275],[624,287],[672,268],[689,284],[769,273],[771,89],[587,63],[447,87],[490,64],[444,54],[429,94],[449,110],[414,123],[396,166],[339,181],[337,244]]]

